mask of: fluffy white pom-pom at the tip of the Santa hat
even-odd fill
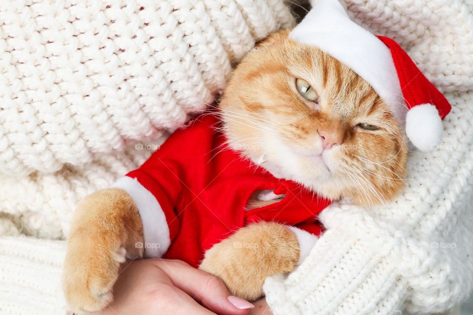
[[[442,120],[437,108],[432,104],[412,107],[405,116],[405,133],[419,150],[435,149],[440,144],[443,133]]]

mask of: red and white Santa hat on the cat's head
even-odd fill
[[[451,109],[446,98],[398,43],[352,22],[338,0],[312,0],[312,9],[289,36],[321,49],[370,83],[415,147],[427,151],[440,143],[441,120]]]

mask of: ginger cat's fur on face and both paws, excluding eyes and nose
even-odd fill
[[[234,71],[220,103],[230,144],[254,161],[266,156],[262,166],[275,176],[330,199],[365,206],[390,200],[405,176],[407,149],[399,124],[365,80],[322,51],[291,41],[288,33],[270,35]],[[319,104],[298,94],[296,78],[315,89]],[[380,129],[362,130],[360,123]],[[319,132],[342,142],[324,159],[317,152]],[[248,207],[261,204],[252,200]],[[64,269],[73,310],[94,311],[109,303],[125,251],[143,254],[135,242],[142,242],[141,221],[125,191],[102,190],[79,204]],[[262,222],[214,245],[201,269],[254,300],[266,277],[292,271],[298,260],[296,236],[283,225]]]

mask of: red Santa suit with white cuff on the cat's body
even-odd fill
[[[114,187],[127,190],[143,223],[146,256],[180,259],[197,267],[203,253],[251,222],[276,221],[315,235],[317,214],[330,201],[301,185],[273,177],[227,147],[215,116],[175,131],[140,168]],[[245,211],[259,190],[285,194],[281,201]]]

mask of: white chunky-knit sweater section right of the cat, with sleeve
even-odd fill
[[[406,187],[374,209],[332,205],[327,232],[287,279],[266,281],[275,315],[432,314],[465,300],[473,285],[473,38],[462,1],[345,1],[349,15],[400,42],[453,109],[445,138],[413,151]],[[455,92],[453,92],[455,91]]]

